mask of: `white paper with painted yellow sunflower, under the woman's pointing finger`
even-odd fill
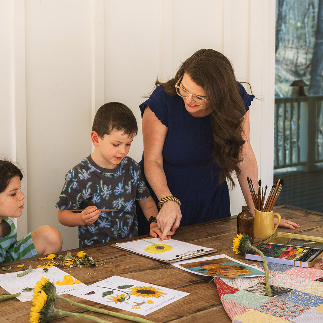
[[[161,261],[181,260],[180,255],[185,257],[214,250],[213,248],[205,248],[174,239],[160,242],[159,238],[146,238],[116,243],[115,245],[119,248]]]

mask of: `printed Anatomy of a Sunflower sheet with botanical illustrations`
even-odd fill
[[[141,315],[147,315],[189,295],[120,276],[103,279],[68,294]]]

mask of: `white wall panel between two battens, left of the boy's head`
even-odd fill
[[[55,204],[65,173],[91,153],[91,2],[26,1],[25,7],[28,230],[51,224],[63,248],[67,237],[76,247],[77,228],[58,223]]]

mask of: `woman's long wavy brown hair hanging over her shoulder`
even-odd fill
[[[241,173],[238,163],[243,160],[242,120],[245,105],[239,94],[231,62],[213,49],[200,49],[186,59],[175,78],[162,83],[156,80],[156,87],[163,85],[170,95],[177,95],[175,84],[184,73],[199,86],[210,100],[213,111],[211,125],[213,132],[213,161],[220,167],[219,183],[227,178],[235,186],[232,174]]]

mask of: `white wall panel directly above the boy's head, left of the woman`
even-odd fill
[[[161,62],[168,64],[160,49],[161,8],[150,0],[104,3],[105,102],[119,101],[133,110],[139,131],[129,155],[137,161],[143,151],[139,104],[153,90]]]

